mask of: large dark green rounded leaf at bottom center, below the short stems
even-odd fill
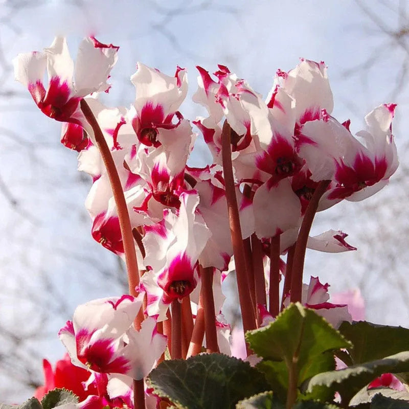
[[[234,408],[239,400],[269,389],[248,362],[222,354],[163,361],[149,381],[155,394],[189,409]]]

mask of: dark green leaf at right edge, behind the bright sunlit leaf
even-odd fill
[[[354,364],[395,355],[406,351],[409,345],[409,329],[402,327],[377,325],[366,321],[350,324],[344,321],[339,332],[354,346],[348,348]]]

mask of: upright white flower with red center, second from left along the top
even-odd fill
[[[181,119],[177,109],[188,91],[186,70],[177,67],[175,76],[169,77],[138,62],[131,81],[137,92],[133,129],[142,144],[157,148],[161,145],[158,130],[172,129],[177,126],[172,123],[173,119]]]

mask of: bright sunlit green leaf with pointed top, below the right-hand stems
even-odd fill
[[[283,399],[288,371],[297,362],[298,385],[313,375],[335,369],[332,351],[352,345],[313,310],[291,304],[266,327],[246,333],[251,349],[263,361],[257,365],[272,390]]]

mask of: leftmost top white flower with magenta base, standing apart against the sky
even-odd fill
[[[28,87],[34,102],[47,116],[81,125],[92,136],[79,103],[86,95],[108,91],[106,81],[117,62],[118,49],[94,37],[85,38],[80,43],[74,67],[65,38],[56,37],[42,52],[19,54],[13,60],[14,75]],[[48,84],[44,85],[46,70]]]

